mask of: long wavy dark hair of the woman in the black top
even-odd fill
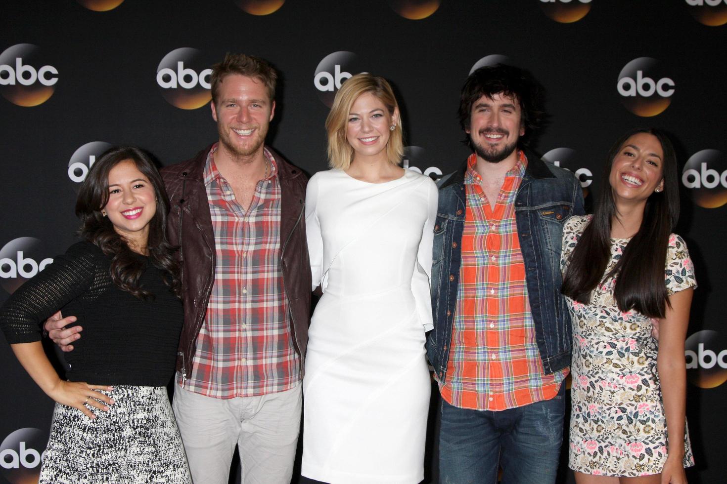
[[[137,147],[113,147],[108,149],[89,170],[81,184],[76,200],[76,216],[81,219],[79,234],[97,245],[103,253],[111,255],[111,280],[116,287],[130,292],[136,298],[147,299],[153,295],[140,287],[139,279],[145,268],[142,261],[126,244],[121,235],[113,229],[113,223],[101,214],[108,203],[108,173],[124,160],[131,160],[153,186],[156,196],[156,213],[149,222],[147,250],[149,261],[164,274],[164,282],[181,298],[182,284],[179,278],[179,264],[174,258],[174,248],[166,240],[166,216],[169,213],[169,199],[164,182],[150,156]]]

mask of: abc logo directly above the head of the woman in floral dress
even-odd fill
[[[616,89],[627,110],[648,118],[664,112],[672,102],[674,81],[659,70],[659,61],[651,57],[632,60],[619,73]]]

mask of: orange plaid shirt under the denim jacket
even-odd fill
[[[506,173],[494,209],[467,160],[462,266],[442,398],[453,406],[505,410],[550,400],[568,370],[546,375],[530,312],[525,264],[515,224],[515,196],[527,159]]]

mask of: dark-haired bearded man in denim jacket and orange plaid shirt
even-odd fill
[[[571,358],[561,232],[583,213],[575,177],[527,148],[542,87],[475,70],[459,104],[473,154],[445,177],[435,223],[427,353],[441,393],[443,483],[552,483]]]

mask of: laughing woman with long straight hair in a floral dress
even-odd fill
[[[684,340],[696,281],[684,241],[672,234],[676,157],[669,139],[648,129],[624,135],[608,160],[610,189],[595,213],[563,229],[573,320],[569,467],[579,484],[686,483],[694,459]]]

